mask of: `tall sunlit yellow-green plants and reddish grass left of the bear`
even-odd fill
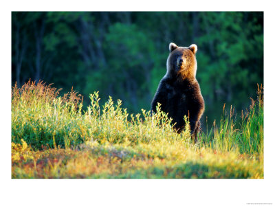
[[[111,144],[139,144],[154,141],[189,141],[186,130],[174,133],[171,119],[162,111],[129,115],[121,100],[112,98],[100,108],[98,92],[90,95],[91,105],[83,111],[81,97],[74,91],[58,97],[51,85],[26,83],[12,89],[12,141],[23,139],[32,148],[71,148],[86,141]],[[130,120],[129,120],[130,119]]]

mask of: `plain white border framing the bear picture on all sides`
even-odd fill
[[[270,1],[272,2],[272,1]],[[274,7],[265,1],[1,1],[1,205],[247,205],[274,201]],[[11,180],[11,11],[264,11],[264,180]],[[256,51],[255,51],[256,52]],[[273,161],[272,161],[273,160]]]

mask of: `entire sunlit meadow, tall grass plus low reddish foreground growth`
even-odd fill
[[[84,111],[81,95],[58,94],[43,82],[12,88],[13,179],[263,179],[262,87],[239,123],[223,110],[197,143],[159,108],[133,115],[94,93]]]

